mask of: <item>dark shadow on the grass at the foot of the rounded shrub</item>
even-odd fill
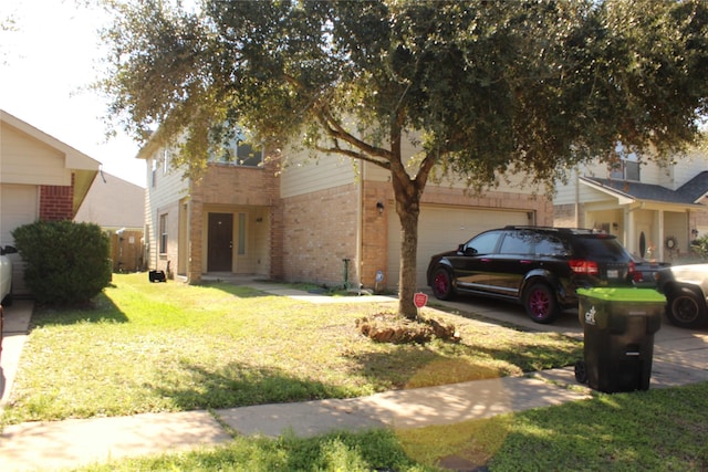
[[[77,323],[127,323],[127,315],[105,293],[100,293],[82,306],[35,305],[30,329],[42,326]]]

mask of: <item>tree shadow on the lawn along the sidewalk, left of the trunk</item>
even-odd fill
[[[274,367],[254,367],[230,363],[217,369],[181,363],[179,378],[164,378],[153,386],[160,397],[169,398],[181,410],[235,408],[346,398],[344,388],[300,378]],[[347,395],[348,394],[348,395]]]

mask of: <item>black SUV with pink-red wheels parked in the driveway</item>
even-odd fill
[[[612,234],[506,227],[434,255],[427,276],[440,300],[465,292],[516,301],[534,322],[552,323],[577,306],[575,289],[632,285],[633,272],[632,256]]]

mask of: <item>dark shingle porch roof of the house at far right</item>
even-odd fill
[[[708,171],[700,172],[677,190],[628,180],[611,180],[597,177],[581,177],[581,179],[601,186],[605,190],[622,197],[664,203],[696,204],[708,192]]]

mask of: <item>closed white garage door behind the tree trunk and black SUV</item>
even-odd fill
[[[389,207],[393,208],[393,204]],[[418,287],[425,287],[426,270],[433,254],[457,249],[475,234],[507,224],[529,224],[525,211],[486,210],[421,206],[418,218],[417,277]],[[387,286],[398,286],[400,263],[400,222],[395,212],[388,218]]]

